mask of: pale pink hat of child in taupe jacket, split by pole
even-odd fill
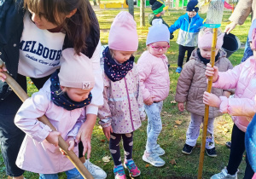
[[[224,33],[217,37],[216,49],[220,49],[223,45]],[[198,48],[212,48],[212,32],[200,32],[198,35]]]

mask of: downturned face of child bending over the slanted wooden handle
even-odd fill
[[[63,90],[64,87],[61,86],[61,90]],[[65,92],[67,93],[68,97],[76,102],[84,101],[86,98],[88,98],[88,95],[90,94],[90,88],[89,90],[83,90],[83,89],[77,89],[77,88],[65,88]]]

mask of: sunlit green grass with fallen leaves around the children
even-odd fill
[[[128,10],[128,9],[99,9],[98,7],[94,7],[96,11],[97,18],[101,27],[101,41],[102,44],[108,43],[108,32],[113,21],[113,18],[116,14],[119,13],[120,10]],[[136,61],[139,56],[146,49],[145,42],[148,33],[148,22],[147,15],[151,13],[151,9],[146,9],[146,26],[139,26],[139,9],[135,9],[135,20],[137,21],[137,32],[139,35],[139,48],[135,54]],[[184,14],[185,10],[169,10],[165,16],[164,20],[172,25],[177,18]],[[230,17],[230,11],[224,11],[224,18],[222,28],[228,25],[228,18]],[[200,14],[202,18],[206,18],[206,14]],[[248,18],[249,19],[249,18]],[[241,43],[245,43],[247,38],[247,32],[250,26],[250,20],[247,20],[243,26],[236,26],[236,29],[232,31],[240,40]],[[162,156],[162,159],[166,161],[166,165],[160,168],[156,168],[152,165],[148,165],[143,162],[142,156],[145,150],[146,144],[146,128],[147,121],[143,122],[143,126],[135,131],[134,134],[134,150],[133,150],[133,159],[135,160],[137,166],[142,171],[141,176],[137,178],[196,178],[198,163],[199,163],[199,155],[200,155],[200,146],[201,146],[201,136],[199,137],[196,147],[193,153],[189,156],[183,155],[181,153],[183,144],[185,142],[185,134],[189,124],[189,113],[184,112],[180,113],[177,110],[177,104],[174,103],[174,95],[177,85],[178,74],[175,73],[175,69],[177,67],[177,55],[178,55],[178,45],[176,43],[178,31],[174,32],[175,38],[172,39],[170,45],[171,48],[168,49],[167,57],[169,59],[169,63],[171,67],[169,69],[170,80],[171,80],[171,90],[169,96],[164,102],[164,107],[162,111],[162,123],[163,130],[161,131],[158,142],[161,147],[166,150],[166,154]],[[236,53],[230,56],[230,61],[234,66],[240,63],[241,57],[243,55],[244,49],[239,49]],[[29,94],[31,95],[35,90],[32,84],[29,84],[28,87]],[[179,121],[181,124],[177,124]],[[217,158],[209,158],[205,157],[204,160],[204,168],[203,168],[203,178],[209,178],[212,174],[218,173],[220,170],[224,168],[228,163],[230,150],[224,146],[225,141],[230,140],[230,134],[232,129],[232,120],[229,115],[224,115],[222,117],[218,117],[215,120],[215,137],[216,137],[216,149],[218,152]],[[92,153],[90,161],[96,165],[102,167],[108,174],[108,178],[113,178],[113,160],[109,163],[104,163],[102,161],[102,157],[108,155],[110,156],[110,152],[108,150],[108,141],[106,137],[102,133],[101,127],[96,124],[95,129],[93,131],[92,136]],[[122,151],[122,156],[123,151]],[[172,165],[172,161],[176,161],[176,165]],[[39,161],[38,161],[39,162]],[[245,169],[245,161],[241,162],[239,167],[239,178],[241,178],[244,174]],[[0,158],[0,178],[6,178],[4,173],[4,165],[3,159]],[[128,172],[126,171],[128,176]],[[31,172],[25,173],[26,178],[38,178],[38,174],[33,174]],[[61,178],[66,178],[65,175],[61,174]]]

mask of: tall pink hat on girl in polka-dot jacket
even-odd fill
[[[137,51],[137,25],[131,14],[121,11],[114,18],[108,36],[109,49]]]

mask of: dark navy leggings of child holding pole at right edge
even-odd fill
[[[238,129],[236,124],[233,125],[232,136],[231,136],[231,147],[230,147],[230,159],[227,166],[228,173],[234,175],[241,163],[242,155],[245,151],[245,132]],[[247,168],[245,170],[244,179],[252,179],[253,169],[248,163],[246,156]]]

